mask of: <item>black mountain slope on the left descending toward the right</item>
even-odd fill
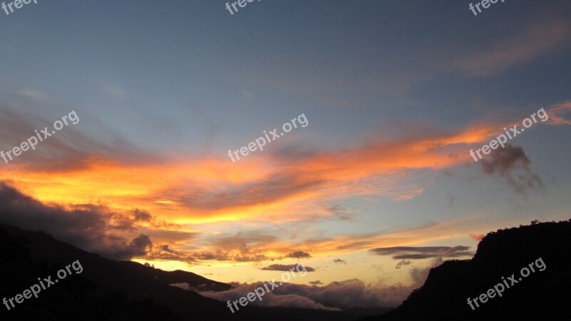
[[[335,311],[281,307],[241,307],[232,314],[226,303],[171,286],[222,291],[231,285],[181,270],[166,272],[133,262],[119,262],[75,248],[51,235],[0,225],[0,299],[22,294],[67,265],[70,275],[15,307],[0,305],[2,320],[333,320],[358,317]],[[80,272],[76,274],[76,271]],[[42,281],[43,282],[43,281]],[[47,284],[47,282],[44,282]],[[45,284],[45,285],[46,285]]]

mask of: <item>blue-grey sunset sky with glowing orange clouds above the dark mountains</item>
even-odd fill
[[[0,223],[237,287],[303,263],[308,291],[398,304],[486,233],[570,218],[571,4],[469,4],[0,11],[0,149],[45,138],[0,159]]]

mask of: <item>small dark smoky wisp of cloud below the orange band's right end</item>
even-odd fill
[[[527,194],[532,188],[542,188],[539,175],[530,170],[530,159],[523,148],[506,144],[505,148],[497,148],[478,162],[484,173],[496,175],[507,180],[515,193]]]

